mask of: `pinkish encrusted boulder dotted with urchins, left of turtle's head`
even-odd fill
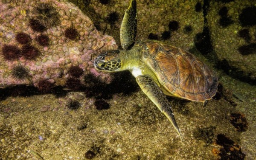
[[[39,26],[37,28],[39,31],[35,31],[32,29],[33,24],[29,25],[29,22],[34,20],[35,15],[32,14],[35,14],[35,11],[33,10],[43,3],[52,6],[58,13],[58,23],[52,22],[53,26],[43,24],[41,27],[44,30],[40,30],[42,28]],[[56,86],[64,85],[70,76],[68,70],[71,66],[79,66],[84,73],[91,72],[93,59],[100,51],[117,48],[111,36],[101,35],[90,18],[74,4],[64,0],[41,0],[40,3],[33,0],[21,0],[18,3],[0,1],[0,11],[0,88],[15,84],[37,85],[41,79],[47,79]],[[36,21],[35,23],[38,24]],[[68,39],[64,35],[65,30],[71,27],[78,32],[76,39]],[[36,49],[27,49],[24,51],[27,53],[18,58],[7,60],[3,56],[4,45],[13,45],[20,50],[24,48],[24,45],[17,42],[17,38],[15,39],[18,33],[28,34],[31,39],[28,45]],[[49,37],[48,45],[42,46],[38,43],[38,36],[41,34]],[[39,51],[38,56],[33,57],[34,59],[26,58],[25,55],[31,56],[36,50]],[[12,55],[12,52],[9,54]],[[29,76],[26,79],[17,79],[12,75],[12,69],[17,65],[22,65],[29,70]],[[111,81],[108,74],[97,74],[102,76],[102,79]]]

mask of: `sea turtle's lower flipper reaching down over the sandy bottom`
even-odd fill
[[[158,107],[158,109],[160,109],[160,111],[166,115],[169,121],[172,122],[172,125],[175,127],[180,136],[180,129],[172,113],[172,107],[160,87],[158,87],[153,79],[147,75],[137,76],[136,81],[140,85],[141,90],[148,96],[148,98],[151,99],[151,101]]]

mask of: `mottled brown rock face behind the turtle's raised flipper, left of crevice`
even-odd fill
[[[102,3],[99,0],[91,0],[86,2],[87,6],[80,1],[79,6],[91,15],[100,31],[113,36],[120,45],[120,26],[130,1],[111,0],[111,3]],[[203,0],[137,0],[136,39],[145,40],[153,37],[186,51],[193,48],[196,34],[201,33],[204,28],[202,5]],[[196,9],[196,6],[200,7]],[[178,22],[177,29],[173,24],[170,29],[169,24],[172,21]],[[186,31],[188,26],[190,30]],[[165,33],[170,35],[166,36]]]

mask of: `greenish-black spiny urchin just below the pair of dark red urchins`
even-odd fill
[[[18,81],[29,79],[29,68],[24,65],[15,65],[12,67],[11,77]]]

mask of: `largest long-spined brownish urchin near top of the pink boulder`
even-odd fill
[[[31,14],[33,19],[37,20],[46,28],[55,26],[60,21],[58,12],[51,3],[36,4],[36,6],[32,9]]]

